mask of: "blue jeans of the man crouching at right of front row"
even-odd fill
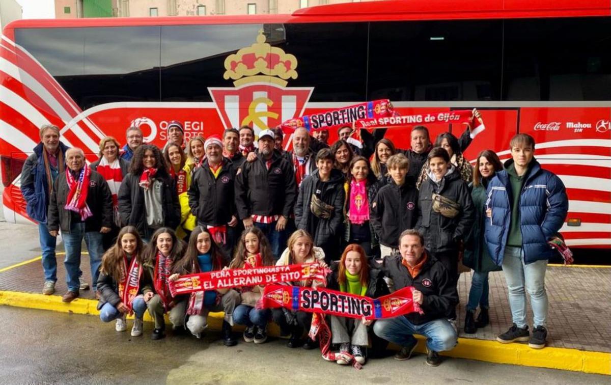
[[[448,320],[444,319],[414,325],[403,316],[387,318],[377,320],[373,324],[373,332],[376,336],[401,347],[413,343],[414,334],[420,334],[426,337],[426,347],[433,351],[452,350],[458,342],[458,334]]]

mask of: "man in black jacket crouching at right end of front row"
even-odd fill
[[[411,358],[418,343],[414,334],[426,337],[426,364],[441,364],[439,351],[452,350],[458,334],[446,319],[450,310],[458,304],[456,285],[450,279],[445,266],[424,248],[424,239],[417,230],[405,230],[399,238],[401,254],[384,258],[382,272],[393,280],[397,290],[415,288],[414,302],[422,307],[423,314],[410,313],[400,317],[378,320],[373,332],[401,346],[395,359]]]

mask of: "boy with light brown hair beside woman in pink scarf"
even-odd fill
[[[379,189],[371,207],[371,224],[378,235],[380,254],[393,254],[399,248],[399,235],[413,229],[418,221],[418,190],[407,177],[409,161],[403,154],[390,156],[386,162],[390,182]]]

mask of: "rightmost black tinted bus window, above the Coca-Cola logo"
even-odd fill
[[[505,21],[503,100],[611,100],[611,18]]]

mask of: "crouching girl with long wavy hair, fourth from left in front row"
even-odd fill
[[[271,254],[271,246],[263,232],[257,227],[244,230],[229,268],[257,268],[273,265],[274,257]],[[244,341],[263,343],[267,340],[267,324],[271,314],[269,309],[255,309],[258,299],[262,296],[263,287],[243,286],[240,292],[242,303],[233,312],[233,322],[238,325],[246,325]]]

